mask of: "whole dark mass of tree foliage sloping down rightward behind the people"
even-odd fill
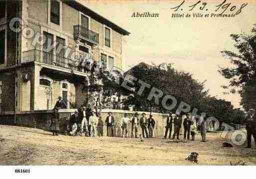
[[[198,114],[205,112],[208,116],[216,117],[220,123],[238,123],[245,116],[241,109],[234,109],[231,102],[210,96],[204,83],[195,80],[190,73],[179,72],[171,64],[166,65],[166,69],[162,66],[163,64],[149,66],[142,63],[132,68],[130,74],[150,84],[151,88],[145,88],[142,95],[138,95],[141,84],[136,82],[134,93],[129,96],[126,103],[134,104],[136,110],[149,111],[149,107],[152,106],[155,112],[169,112],[161,105],[162,98],[159,104],[155,104],[154,99],[148,100],[152,87],[155,87],[162,90],[164,96],[172,95],[177,99],[178,105],[172,112],[175,112],[183,101],[191,106],[191,110],[197,108]]]

